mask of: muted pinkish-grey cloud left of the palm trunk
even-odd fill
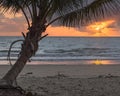
[[[26,22],[22,16],[8,17],[7,15],[0,14],[0,32],[22,32],[27,29]]]

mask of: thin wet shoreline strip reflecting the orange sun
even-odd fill
[[[14,64],[15,61],[12,61]],[[27,62],[28,65],[119,65],[115,59],[85,59],[85,60],[43,60]],[[0,65],[9,65],[9,61],[0,60]]]

